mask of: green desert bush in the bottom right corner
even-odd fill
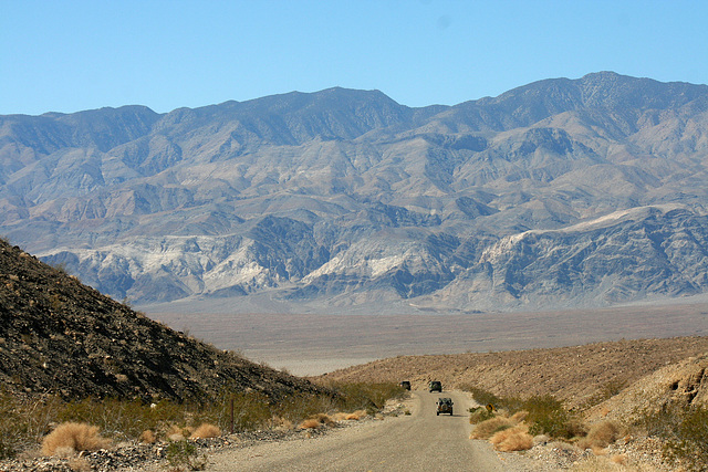
[[[664,440],[668,461],[687,471],[708,470],[708,409],[666,406],[645,412],[637,426]]]

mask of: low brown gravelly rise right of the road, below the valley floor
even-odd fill
[[[595,343],[552,349],[399,356],[340,369],[322,378],[356,381],[430,379],[472,385],[499,396],[551,394],[569,408],[608,398],[664,366],[708,353],[708,337]]]

